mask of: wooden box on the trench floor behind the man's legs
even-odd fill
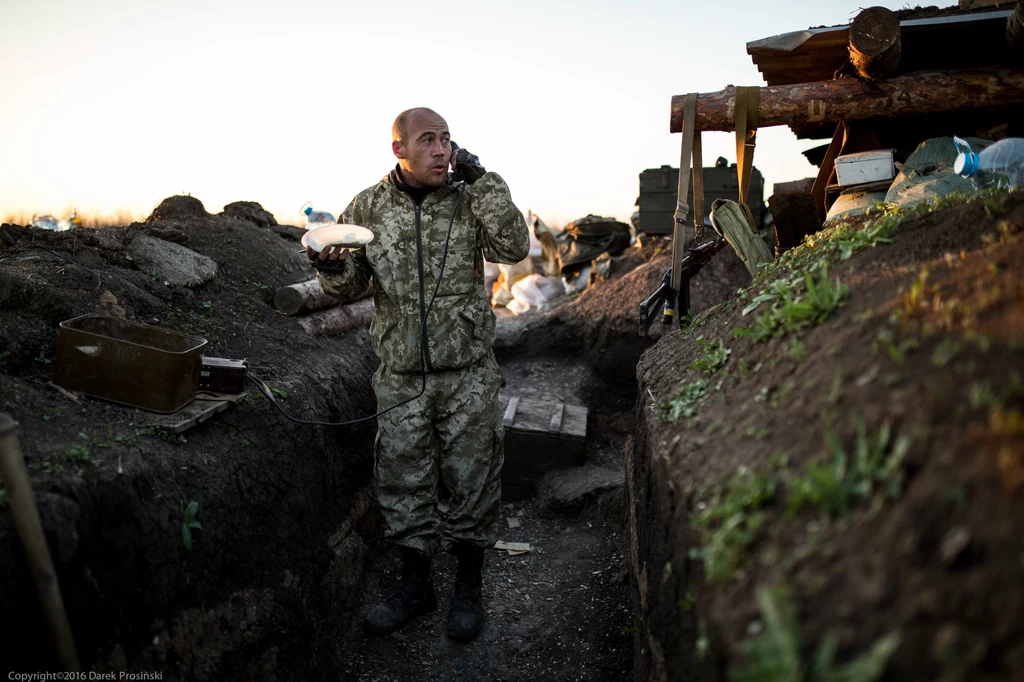
[[[587,408],[550,400],[502,395],[505,466],[502,500],[530,497],[548,471],[583,462]]]

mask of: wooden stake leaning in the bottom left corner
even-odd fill
[[[17,444],[17,422],[3,413],[0,413],[0,475],[3,476],[7,489],[14,527],[22,539],[25,555],[36,582],[43,615],[53,636],[57,659],[65,670],[78,672],[81,666],[78,662],[78,651],[75,649],[75,640],[71,634],[71,626],[68,623],[68,614],[65,612],[63,600],[60,598],[60,586],[53,571],[50,551],[46,547],[43,525],[39,521],[39,511],[36,509],[36,499],[29,482],[29,472],[25,468],[22,450]]]

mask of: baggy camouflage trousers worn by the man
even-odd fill
[[[502,373],[493,353],[460,370],[427,373],[423,395],[378,418],[377,500],[393,544],[428,556],[452,543],[492,547],[504,461],[498,390]],[[374,375],[377,409],[420,392],[419,374],[381,365]],[[438,511],[438,476],[451,494]]]

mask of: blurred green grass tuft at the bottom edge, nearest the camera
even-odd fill
[[[836,664],[838,638],[826,633],[810,660],[803,656],[803,643],[796,608],[784,590],[758,590],[764,631],[746,642],[746,665],[730,671],[736,682],[874,682],[899,647],[899,633],[874,642],[856,658]]]

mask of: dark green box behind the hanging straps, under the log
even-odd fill
[[[703,169],[705,179],[705,222],[711,224],[711,205],[716,199],[737,201],[739,180],[736,166],[716,166]],[[648,168],[640,173],[640,196],[637,198],[640,218],[638,232],[648,235],[671,235],[676,213],[676,188],[679,186],[679,169],[671,166]],[[693,210],[693,176],[686,205]],[[751,207],[754,221],[759,227],[764,221],[764,178],[757,168],[751,171],[751,186],[746,191],[746,205]],[[687,219],[687,228],[693,225],[692,217]]]

